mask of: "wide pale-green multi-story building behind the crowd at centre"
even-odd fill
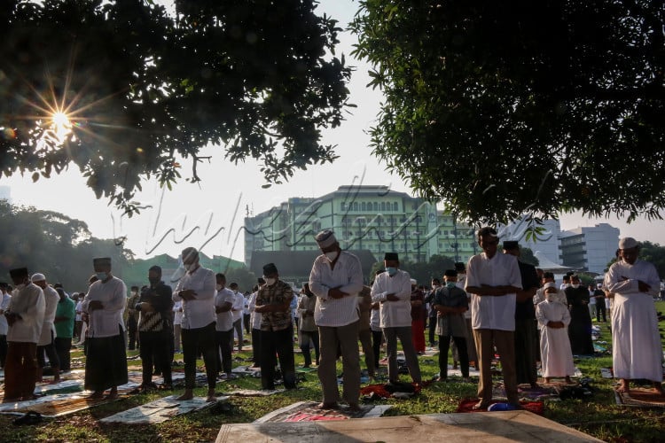
[[[245,219],[245,262],[254,251],[318,250],[314,236],[332,229],[342,249],[386,252],[423,262],[434,254],[466,261],[477,253],[473,229],[423,198],[387,186],[340,186],[319,198],[289,198]]]

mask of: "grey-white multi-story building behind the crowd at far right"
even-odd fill
[[[559,246],[563,265],[602,274],[614,259],[619,229],[608,223],[561,232]]]

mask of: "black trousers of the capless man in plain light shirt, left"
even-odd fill
[[[215,346],[215,322],[202,328],[182,330],[184,388],[194,389],[196,378],[196,356],[203,354],[206,365],[207,388],[215,389],[217,376],[217,346]]]

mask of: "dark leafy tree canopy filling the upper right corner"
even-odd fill
[[[364,0],[373,151],[462,220],[665,206],[661,1]]]

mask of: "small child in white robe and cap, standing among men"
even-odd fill
[[[545,383],[550,383],[552,377],[566,377],[566,382],[570,383],[570,376],[575,373],[567,331],[570,313],[566,305],[557,301],[556,284],[544,284],[544,293],[545,300],[536,305],[543,377]]]

